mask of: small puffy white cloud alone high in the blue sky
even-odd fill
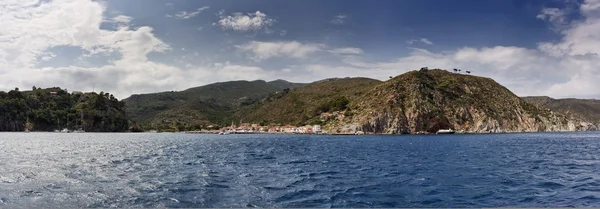
[[[248,14],[236,12],[229,16],[223,16],[223,13],[220,12],[220,20],[215,25],[220,26],[224,30],[246,32],[267,29],[274,23],[275,19],[270,18],[260,11]]]

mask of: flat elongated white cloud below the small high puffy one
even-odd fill
[[[272,57],[305,58],[307,55],[320,51],[324,48],[321,44],[302,44],[297,41],[291,42],[261,42],[251,41],[244,45],[238,45],[241,51],[251,52],[255,61],[261,61]]]

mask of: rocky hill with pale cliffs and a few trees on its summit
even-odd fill
[[[331,132],[466,133],[597,130],[592,123],[531,105],[489,78],[444,70],[412,71],[351,103]]]

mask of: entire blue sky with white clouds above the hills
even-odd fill
[[[132,94],[421,67],[600,99],[600,0],[2,0],[0,90]]]

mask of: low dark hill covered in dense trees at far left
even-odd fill
[[[58,87],[0,91],[0,131],[127,131],[124,107],[124,102],[104,92],[69,93]]]

